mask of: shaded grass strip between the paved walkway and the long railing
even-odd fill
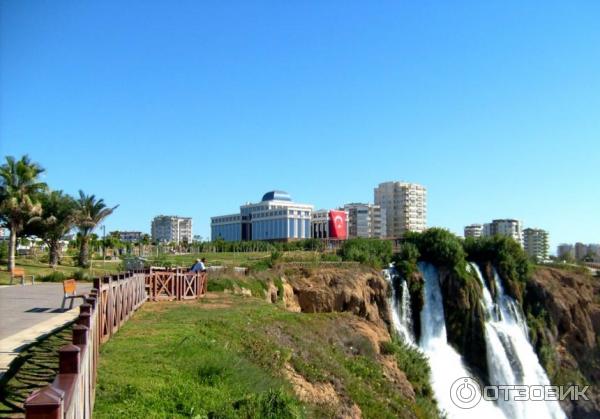
[[[54,380],[58,372],[58,350],[71,343],[67,326],[25,349],[0,382],[0,417],[23,418],[23,402],[32,391]]]

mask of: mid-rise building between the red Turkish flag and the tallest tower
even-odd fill
[[[387,235],[385,210],[379,205],[351,203],[348,213],[348,237],[384,238]]]

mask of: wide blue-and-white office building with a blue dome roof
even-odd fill
[[[311,237],[313,206],[293,202],[283,191],[270,191],[237,214],[211,218],[211,239],[294,240]]]

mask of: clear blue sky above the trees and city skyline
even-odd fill
[[[0,154],[157,214],[425,185],[429,225],[600,242],[600,2],[0,0]]]

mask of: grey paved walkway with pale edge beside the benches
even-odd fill
[[[78,283],[77,293],[91,288]],[[77,317],[81,299],[65,311],[60,308],[62,296],[62,283],[0,287],[0,377],[24,346]]]

